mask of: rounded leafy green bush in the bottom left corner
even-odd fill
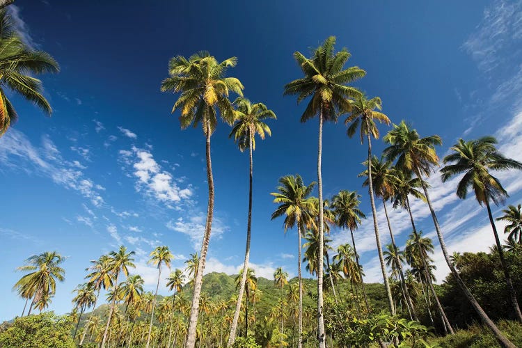
[[[54,312],[16,318],[0,326],[2,348],[73,348],[72,322]]]

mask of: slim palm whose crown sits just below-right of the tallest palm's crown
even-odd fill
[[[361,144],[364,142],[366,136],[368,142],[368,158],[367,162],[372,161],[372,136],[374,139],[379,139],[379,129],[375,121],[384,123],[385,125],[390,124],[390,119],[384,113],[379,111],[382,109],[381,98],[373,97],[367,99],[365,95],[360,95],[354,102],[351,102],[351,113],[346,118],[345,124],[349,125],[347,134],[351,138],[360,129]],[[359,126],[359,124],[361,124]],[[368,167],[368,194],[370,195],[370,204],[372,205],[372,216],[373,216],[373,227],[375,232],[375,241],[377,242],[377,253],[379,253],[379,262],[381,263],[381,272],[384,281],[384,287],[386,289],[386,295],[388,296],[388,307],[390,313],[395,315],[395,309],[393,308],[393,299],[391,296],[390,285],[388,284],[388,276],[386,276],[386,268],[384,267],[384,259],[381,247],[381,237],[379,237],[379,226],[377,225],[377,209],[375,208],[374,189],[373,189],[373,177],[372,168]]]

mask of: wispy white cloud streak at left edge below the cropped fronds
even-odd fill
[[[24,133],[9,129],[0,141],[0,161],[4,168],[15,168],[28,174],[36,173],[51,178],[65,189],[79,191],[94,205],[104,202],[97,185],[86,177],[77,163],[63,159],[48,136],[43,136],[42,148],[37,148]]]

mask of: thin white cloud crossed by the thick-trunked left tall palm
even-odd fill
[[[177,220],[171,220],[166,223],[166,227],[169,230],[174,230],[176,232],[181,232],[184,235],[187,235],[192,242],[194,250],[198,251],[201,247],[201,242],[203,241],[203,235],[205,235],[205,221],[206,216],[203,213],[198,213],[192,216],[187,217],[179,217]],[[216,218],[212,221],[212,238],[221,238],[224,232],[228,230],[228,226],[226,226],[221,219]]]

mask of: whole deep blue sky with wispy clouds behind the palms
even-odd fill
[[[56,250],[68,257],[66,280],[50,306],[65,313],[89,260],[120,244],[136,251],[135,272],[148,290],[157,276],[146,263],[155,246],[171,248],[173,267],[198,251],[207,203],[204,136],[201,129],[182,131],[170,113],[175,95],[159,92],[168,59],[178,54],[206,49],[220,60],[237,56],[229,75],[242,81],[246,97],[278,116],[270,122],[273,135],[254,153],[251,262],[260,276],[271,278],[280,266],[296,274],[296,232],[284,235],[283,221],[270,221],[276,206],[269,193],[282,175],[316,180],[317,120],[301,124],[305,104],[283,97],[283,86],[301,76],[292,52],[308,54],[329,35],[337,36],[338,49],[349,49],[349,65],[367,71],[355,86],[379,95],[393,122],[406,119],[423,136],[439,134],[439,155],[460,136],[493,134],[505,155],[522,160],[521,1],[333,1],[319,10],[306,1],[100,7],[19,0],[10,11],[26,42],[51,53],[61,72],[42,77],[52,117],[11,95],[20,117],[0,139],[0,320],[21,313],[24,303],[11,290],[22,276],[15,269],[35,253]],[[342,120],[324,129],[324,193],[358,190],[371,216],[356,177],[366,145],[347,138]],[[221,123],[212,136],[216,219],[205,271],[232,274],[244,254],[248,155],[228,132]],[[383,148],[374,143],[376,153]],[[519,203],[521,173],[498,177],[511,195],[507,203]],[[458,200],[455,180],[441,184],[434,174],[430,182],[450,251],[493,244],[484,208],[473,198]],[[386,244],[386,221],[377,208]],[[413,214],[436,239],[427,207],[415,202]],[[392,212],[391,219],[403,245],[409,222],[404,212]],[[331,237],[333,246],[349,242],[344,231]],[[367,280],[381,280],[371,219],[356,239]],[[434,259],[441,281],[448,267],[441,253]],[[160,292],[166,294],[163,286]]]

